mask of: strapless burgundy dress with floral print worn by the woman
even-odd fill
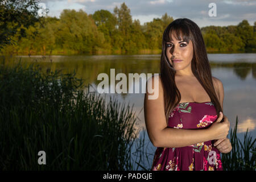
[[[171,112],[168,127],[176,129],[202,129],[216,121],[212,102],[181,102]],[[212,140],[191,146],[156,148],[153,171],[222,171],[220,151]]]

